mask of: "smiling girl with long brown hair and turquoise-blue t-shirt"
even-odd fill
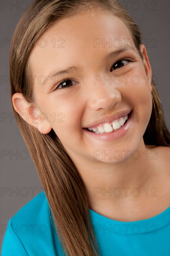
[[[170,133],[137,24],[116,0],[36,0],[13,41],[13,111],[45,191],[2,256],[169,255]]]

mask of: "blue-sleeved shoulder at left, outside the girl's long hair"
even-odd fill
[[[54,232],[50,207],[41,192],[26,203],[7,224],[2,256],[56,255],[58,234]]]

